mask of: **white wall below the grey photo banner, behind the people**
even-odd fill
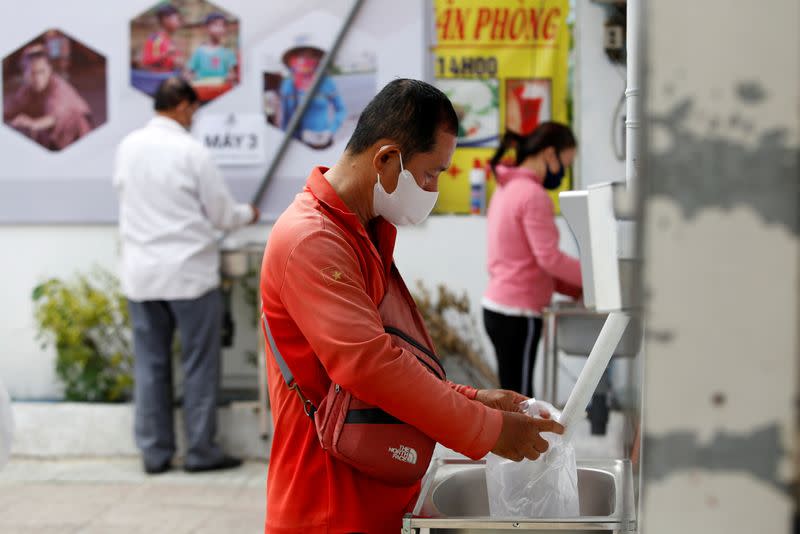
[[[572,236],[559,221],[562,248],[575,254]],[[263,242],[270,227],[248,228],[235,236],[239,242]],[[49,277],[69,277],[97,265],[116,271],[118,240],[114,226],[0,226],[0,250],[11,260],[0,277],[0,378],[18,399],[58,398],[54,374],[55,353],[36,341],[31,291]],[[413,284],[428,287],[443,283],[456,292],[466,291],[481,334],[480,299],[488,282],[486,273],[486,219],[484,217],[432,217],[418,228],[402,228],[397,240],[397,264]],[[245,351],[256,347],[257,331],[250,326],[249,310],[235,293],[236,339],[223,355],[225,382],[244,385],[254,381],[255,369],[245,361]],[[488,341],[485,348],[494,365]],[[562,386],[563,390],[563,386]]]

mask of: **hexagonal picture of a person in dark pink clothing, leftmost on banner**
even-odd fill
[[[108,117],[106,58],[52,28],[3,58],[3,123],[58,152]]]

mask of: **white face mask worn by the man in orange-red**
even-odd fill
[[[381,185],[379,174],[372,205],[376,215],[380,215],[392,224],[419,224],[430,215],[438,198],[438,191],[425,191],[417,185],[411,171],[403,169],[401,154],[397,188],[392,194],[387,193]]]

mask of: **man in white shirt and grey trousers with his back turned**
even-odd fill
[[[218,232],[258,220],[237,204],[206,148],[188,132],[197,93],[180,78],[155,94],[156,116],[117,149],[122,289],[133,324],[134,434],[148,473],[175,453],[172,338],[180,334],[190,472],[237,467],[215,443],[222,297]]]

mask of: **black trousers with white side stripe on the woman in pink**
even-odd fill
[[[497,355],[500,387],[533,397],[533,368],[542,335],[542,320],[504,315],[484,308],[483,325]]]

